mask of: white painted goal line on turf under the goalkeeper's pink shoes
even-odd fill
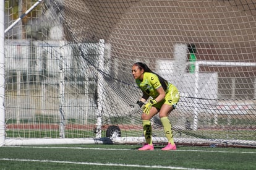
[[[59,148],[59,149],[77,149],[77,150],[127,150],[127,151],[138,151],[131,149],[116,149],[116,148],[82,148],[82,147],[22,147],[13,146],[6,148]],[[211,153],[251,153],[256,154],[256,151],[218,151],[218,150],[175,150],[175,151],[195,151],[195,152],[211,152]]]

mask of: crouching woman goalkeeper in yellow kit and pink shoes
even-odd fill
[[[143,134],[147,144],[139,148],[139,150],[154,150],[150,119],[157,113],[159,113],[163,124],[164,134],[168,138],[168,145],[161,150],[176,150],[168,115],[175,109],[179,101],[179,91],[174,85],[164,80],[160,75],[155,74],[142,62],[136,62],[132,66],[132,75],[143,93],[142,98],[136,104],[130,104],[132,112],[139,111],[145,104],[142,108],[143,113],[141,117]],[[148,100],[150,96],[151,98]],[[147,100],[148,103],[145,103]]]

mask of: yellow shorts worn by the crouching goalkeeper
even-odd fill
[[[168,90],[166,91],[164,99],[159,103],[156,103],[154,107],[157,109],[161,109],[161,106],[163,106],[163,104],[168,104],[170,106],[173,106],[173,109],[175,109],[178,102],[179,102],[179,90],[177,90],[177,88],[174,85],[169,84]]]

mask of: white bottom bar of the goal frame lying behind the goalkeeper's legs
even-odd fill
[[[253,140],[221,140],[200,138],[174,138],[176,145],[194,147],[249,147],[255,148]],[[4,146],[27,145],[78,145],[78,144],[116,144],[140,145],[145,143],[144,137],[104,137],[104,138],[6,138]],[[153,137],[155,145],[166,145],[168,140],[164,137]]]

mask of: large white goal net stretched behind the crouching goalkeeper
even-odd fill
[[[144,62],[179,89],[177,145],[256,147],[255,6],[4,1],[0,145],[143,143],[129,104],[142,96],[131,67]],[[151,124],[166,143],[158,115]]]

